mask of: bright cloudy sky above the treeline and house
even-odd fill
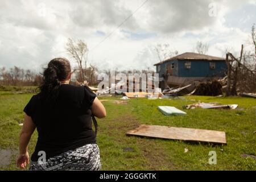
[[[253,23],[255,0],[2,0],[0,67],[38,71],[68,57],[73,38],[88,44],[88,59],[100,69],[154,69],[157,44],[183,53],[201,41],[213,56],[241,44],[249,50]]]

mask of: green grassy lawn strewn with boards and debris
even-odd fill
[[[2,94],[1,94],[2,93]],[[16,170],[15,158],[18,136],[23,120],[23,107],[32,94],[0,92],[0,148],[14,152],[9,166]],[[101,150],[102,170],[255,170],[256,160],[256,100],[245,97],[185,96],[176,100],[147,100],[137,98],[117,104],[118,97],[100,97],[108,116],[98,119],[97,141]],[[197,101],[238,104],[236,110],[185,110],[184,105]],[[175,106],[187,115],[164,116],[157,106]],[[226,145],[184,142],[127,136],[125,133],[140,124],[191,127],[226,132]],[[34,133],[29,146],[32,153],[36,143]],[[184,152],[187,148],[188,152]],[[217,164],[210,165],[209,151],[216,151]]]

